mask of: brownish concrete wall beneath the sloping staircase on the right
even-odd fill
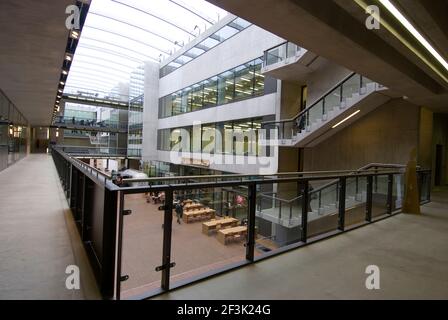
[[[405,164],[419,143],[419,107],[391,100],[313,148],[304,170],[356,169],[373,162]]]

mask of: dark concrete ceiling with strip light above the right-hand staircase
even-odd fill
[[[386,27],[368,30],[363,0],[208,0],[328,60],[379,82],[415,104],[448,112],[448,82]],[[378,3],[378,0],[367,1]],[[365,3],[367,3],[365,2]],[[448,60],[448,3],[393,0],[401,12]],[[381,10],[382,19],[415,47],[412,35]],[[421,48],[419,48],[420,50]],[[423,52],[427,60],[434,59]],[[446,73],[446,70],[443,72]]]

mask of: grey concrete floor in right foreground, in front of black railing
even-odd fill
[[[399,214],[157,299],[448,299],[448,189]],[[366,267],[380,268],[367,290]]]

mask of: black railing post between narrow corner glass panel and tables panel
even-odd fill
[[[171,236],[173,226],[173,190],[165,192],[165,215],[163,219],[162,290],[170,288]]]

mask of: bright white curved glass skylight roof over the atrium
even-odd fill
[[[124,94],[119,84],[129,83],[143,62],[166,59],[226,15],[205,0],[92,0],[65,92]],[[238,32],[230,29],[223,36]],[[206,39],[202,50],[197,46],[173,64],[191,61],[218,40]]]

